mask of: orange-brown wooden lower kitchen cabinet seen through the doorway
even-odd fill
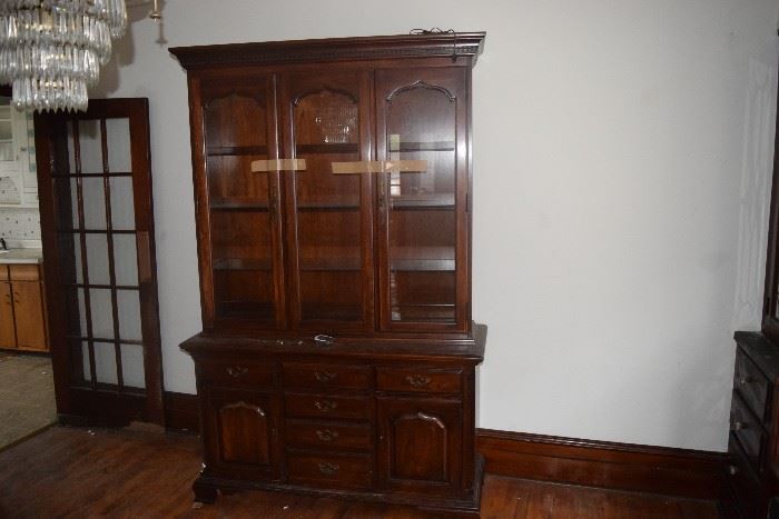
[[[0,348],[48,351],[40,267],[0,263]]]

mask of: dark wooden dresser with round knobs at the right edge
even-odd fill
[[[779,348],[757,332],[736,332],[736,342],[728,515],[779,517]]]

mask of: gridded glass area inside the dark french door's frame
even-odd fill
[[[142,356],[125,353],[130,346],[144,345],[132,168],[126,158],[110,159],[112,153],[127,154],[129,121],[73,118],[66,124],[69,160],[55,164],[51,177],[72,380],[117,392],[142,388]]]

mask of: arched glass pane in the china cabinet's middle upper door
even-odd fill
[[[293,102],[298,297],[302,321],[363,320],[361,176],[334,174],[358,161],[359,110],[346,92],[322,89]]]

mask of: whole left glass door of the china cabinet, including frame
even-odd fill
[[[253,172],[276,158],[273,78],[201,83],[209,233],[200,233],[204,325],[213,319],[284,328],[278,172]],[[199,207],[199,210],[203,208]],[[203,250],[205,249],[205,250]],[[204,253],[205,252],[205,253]]]

